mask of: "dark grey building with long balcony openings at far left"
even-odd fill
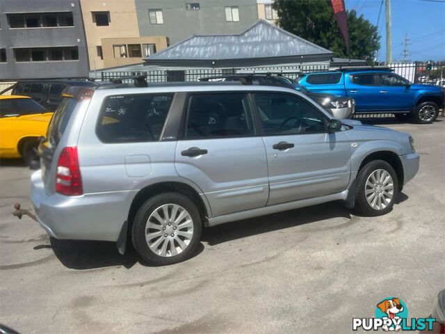
[[[79,0],[0,1],[0,79],[87,76]]]

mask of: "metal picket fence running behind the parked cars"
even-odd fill
[[[357,66],[359,67],[359,66]],[[414,84],[438,84],[445,85],[445,63],[394,63],[389,65],[395,73],[405,77]],[[147,70],[133,72],[101,72],[102,81],[122,79],[123,82],[131,82],[128,77],[143,75],[147,82],[165,81],[199,81],[202,77],[217,77],[224,74],[236,73],[266,73],[279,72],[286,77],[296,79],[298,74],[309,72],[321,72],[337,70],[341,67],[329,65],[295,65],[295,66],[270,66],[270,67],[239,67],[225,69],[193,69],[193,70]],[[127,78],[127,79],[126,79]]]

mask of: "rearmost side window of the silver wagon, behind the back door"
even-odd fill
[[[172,94],[107,97],[102,104],[97,136],[104,143],[159,141]]]

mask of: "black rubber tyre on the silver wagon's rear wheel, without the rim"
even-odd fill
[[[154,253],[154,251],[149,248],[148,243],[145,239],[145,234],[146,232],[148,232],[146,228],[147,228],[147,221],[150,215],[154,213],[156,209],[158,209],[162,205],[167,205],[167,204],[179,205],[180,207],[186,209],[186,211],[188,212],[188,214],[191,216],[192,219],[193,235],[190,239],[188,246],[186,246],[186,248],[182,250],[181,253],[177,255],[161,256],[159,254]],[[169,211],[169,213],[171,212]],[[163,228],[169,228],[169,229],[172,228],[167,225],[160,225],[160,226],[161,227],[164,226]],[[181,230],[181,228],[178,228],[177,231],[179,230]],[[168,232],[168,230],[165,232]],[[170,231],[170,232],[175,232],[175,231]],[[193,255],[193,253],[196,250],[196,247],[200,243],[201,232],[202,232],[202,223],[201,223],[200,213],[198,212],[196,205],[189,198],[180,193],[161,193],[157,196],[149,198],[149,200],[147,200],[143,205],[140,206],[136,214],[136,217],[134,218],[133,221],[131,237],[136,252],[138,252],[140,257],[142,257],[145,262],[156,265],[168,265],[184,261],[188,259],[188,257],[190,257],[191,255]],[[179,238],[179,234],[176,235],[176,237]],[[161,241],[161,239],[164,239],[164,241]],[[165,234],[163,234],[159,239],[157,238],[154,239],[154,242],[157,242],[159,240],[159,246],[160,248],[162,248],[163,244],[170,242],[168,240],[171,239],[173,238],[170,238],[170,236],[165,237]],[[180,248],[177,241],[172,241],[172,242],[174,242],[175,245]],[[168,246],[166,247],[168,247],[170,249],[170,253],[172,253],[170,244],[168,244]]]

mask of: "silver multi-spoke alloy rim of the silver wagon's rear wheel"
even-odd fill
[[[153,253],[171,257],[182,253],[191,243],[193,220],[184,207],[164,204],[150,214],[145,225],[145,240]]]

